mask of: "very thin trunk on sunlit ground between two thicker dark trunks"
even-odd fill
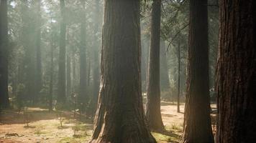
[[[180,41],[178,41],[178,94],[177,94],[177,112],[180,112]]]

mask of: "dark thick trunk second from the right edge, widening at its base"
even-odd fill
[[[191,0],[188,79],[182,142],[214,142],[209,103],[207,19],[207,0]]]

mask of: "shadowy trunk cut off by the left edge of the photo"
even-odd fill
[[[0,1],[0,109],[9,107],[7,0]]]

